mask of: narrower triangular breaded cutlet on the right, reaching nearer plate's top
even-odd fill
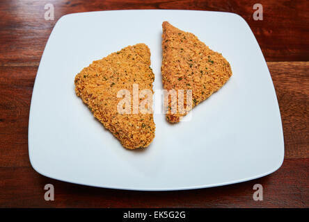
[[[220,89],[232,76],[230,64],[221,53],[209,49],[192,33],[181,31],[168,22],[163,22],[162,28],[161,74],[164,89],[184,89],[184,108],[187,108],[186,90],[191,89],[193,108]],[[172,113],[173,105],[170,99],[166,119],[177,123],[190,111],[190,105],[183,113]]]

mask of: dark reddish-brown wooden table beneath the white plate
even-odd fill
[[[0,2],[0,207],[308,207],[309,6],[308,1],[107,0]],[[44,19],[45,3],[54,21]],[[42,51],[56,21],[94,10],[187,9],[235,12],[252,28],[274,81],[285,138],[283,166],[269,176],[236,185],[189,191],[145,192],[84,187],[40,176],[29,162],[29,106]],[[55,200],[45,201],[45,184]],[[264,200],[253,200],[253,185]]]

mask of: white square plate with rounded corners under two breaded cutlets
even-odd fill
[[[194,33],[230,62],[232,77],[175,125],[154,114],[156,136],[129,151],[74,92],[74,76],[93,60],[145,43],[161,89],[161,24]],[[61,17],[46,44],[29,117],[35,171],[81,185],[134,190],[196,189],[266,176],[283,163],[276,92],[248,24],[232,13],[118,10]]]

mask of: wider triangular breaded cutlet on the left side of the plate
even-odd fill
[[[133,85],[152,92],[154,74],[150,68],[150,50],[136,44],[94,61],[75,77],[75,92],[88,105],[95,118],[129,149],[147,147],[154,139],[153,114],[118,112],[118,92],[133,95]],[[130,99],[132,101],[132,99]],[[131,103],[132,104],[132,103]],[[151,107],[152,109],[152,107]],[[129,110],[132,110],[132,105]]]

